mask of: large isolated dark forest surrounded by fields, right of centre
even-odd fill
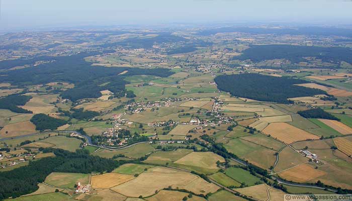
[[[220,75],[214,80],[220,90],[230,92],[234,96],[283,104],[290,103],[287,98],[326,93],[320,89],[294,85],[307,81],[289,77],[247,73]]]

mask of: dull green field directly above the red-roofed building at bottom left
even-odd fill
[[[74,184],[77,182],[88,184],[89,177],[89,174],[53,172],[45,178],[44,182],[53,186],[74,189]]]

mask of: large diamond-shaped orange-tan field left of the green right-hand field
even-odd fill
[[[262,132],[267,135],[271,135],[273,138],[276,138],[286,144],[291,144],[293,142],[303,141],[307,139],[319,139],[318,136],[291,126],[287,123],[269,124],[269,126],[263,129]]]

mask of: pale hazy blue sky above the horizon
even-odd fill
[[[0,1],[1,30],[167,23],[282,22],[336,25],[352,22],[352,0]]]

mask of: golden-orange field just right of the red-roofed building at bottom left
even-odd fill
[[[106,173],[92,176],[91,184],[93,188],[111,188],[133,178],[130,174]]]

